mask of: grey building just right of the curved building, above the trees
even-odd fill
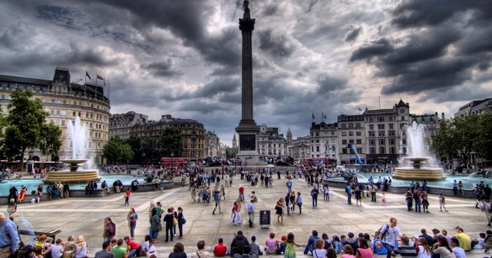
[[[147,123],[148,116],[128,111],[125,114],[112,114],[110,117],[110,138],[119,135],[122,139],[130,137],[130,130],[134,125]]]

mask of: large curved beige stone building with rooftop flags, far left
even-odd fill
[[[72,158],[72,142],[67,126],[78,116],[88,130],[84,158],[89,158],[94,165],[105,163],[103,147],[109,140],[110,100],[105,97],[103,86],[72,83],[69,70],[63,67],[56,67],[53,80],[0,75],[0,86],[1,112],[4,116],[8,114],[7,105],[15,88],[32,90],[34,97],[43,102],[44,110],[49,113],[46,121],[62,128],[60,140],[63,144],[58,152],[59,159]],[[42,156],[39,150],[32,151],[34,159],[51,161],[50,156]]]

